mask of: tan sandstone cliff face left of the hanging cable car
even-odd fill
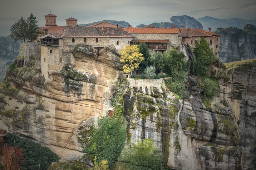
[[[66,55],[72,62],[44,80],[40,45],[34,51],[29,48],[7,70],[0,117],[9,131],[47,145],[62,158],[79,157],[77,126],[106,114],[122,68],[117,52],[109,47],[93,55],[71,51]]]

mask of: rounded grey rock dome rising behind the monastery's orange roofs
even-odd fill
[[[195,29],[203,29],[203,25],[196,21],[193,17],[182,15],[182,16],[172,16],[170,17],[170,21],[180,28],[180,25],[183,25],[183,28],[195,28]]]

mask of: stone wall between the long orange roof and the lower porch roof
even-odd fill
[[[135,34],[135,39],[168,39],[171,44],[181,44],[179,34]]]

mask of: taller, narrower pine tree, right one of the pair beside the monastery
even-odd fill
[[[38,25],[37,25],[37,17],[35,17],[32,13],[27,19],[27,31],[26,31],[26,38],[29,41],[33,41],[37,39],[37,35],[39,34]]]

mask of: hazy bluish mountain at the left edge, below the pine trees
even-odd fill
[[[4,79],[6,69],[10,63],[17,57],[20,48],[20,42],[13,43],[10,35],[0,37],[0,80]]]

